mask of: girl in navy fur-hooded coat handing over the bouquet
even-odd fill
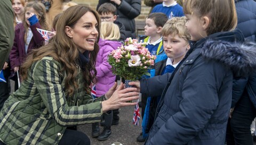
[[[187,0],[183,10],[190,49],[172,74],[130,82],[140,92],[162,95],[145,144],[225,144],[233,74],[256,66],[255,45],[247,48],[236,28],[234,0]],[[175,44],[177,39],[171,39]],[[170,51],[171,53],[171,51]],[[156,85],[157,84],[157,85]]]

